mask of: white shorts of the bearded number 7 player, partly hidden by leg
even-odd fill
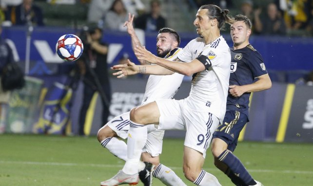
[[[107,123],[107,125],[117,133],[117,136],[123,139],[126,139],[128,136],[129,113],[130,112],[122,113]],[[142,152],[148,152],[151,156],[155,157],[162,153],[164,130],[157,130],[155,125],[148,125],[147,128],[147,142]]]

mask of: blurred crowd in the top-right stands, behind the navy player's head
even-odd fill
[[[254,34],[313,36],[313,0],[194,0],[214,3],[253,21]],[[236,4],[234,4],[236,3]],[[238,4],[239,3],[239,4]]]

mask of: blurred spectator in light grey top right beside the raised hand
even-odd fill
[[[111,30],[123,30],[125,21],[128,20],[125,5],[122,0],[114,0],[109,11],[105,14],[104,28]]]

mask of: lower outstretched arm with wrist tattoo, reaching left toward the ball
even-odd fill
[[[154,75],[174,74],[173,71],[170,71],[159,65],[136,65],[129,59],[127,60],[127,64],[114,65],[113,67],[111,67],[111,69],[118,70],[118,72],[113,73],[113,75],[116,75],[117,78],[134,74],[154,74]]]

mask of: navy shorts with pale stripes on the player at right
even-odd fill
[[[240,131],[248,122],[248,117],[238,111],[227,111],[222,125],[219,125],[214,132],[213,138],[225,141],[229,150],[235,150]]]

